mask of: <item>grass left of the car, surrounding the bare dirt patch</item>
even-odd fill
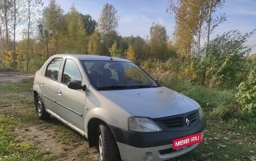
[[[0,160],[62,160],[63,156],[57,156],[45,150],[40,150],[36,144],[28,144],[15,136],[15,128],[28,129],[36,126],[40,130],[53,129],[52,137],[63,145],[63,151],[71,150],[85,141],[85,137],[72,130],[58,119],[51,117],[48,121],[41,121],[35,114],[32,94],[33,79],[20,82],[0,82]],[[89,151],[95,155],[95,149]],[[79,158],[89,152],[80,152]],[[77,152],[77,151],[76,151]],[[92,154],[91,154],[92,153]],[[84,154],[84,155],[83,155]],[[78,154],[77,154],[78,155]]]

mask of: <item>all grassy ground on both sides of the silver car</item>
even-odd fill
[[[207,118],[207,131],[199,146],[171,160],[253,160],[256,153],[256,119],[240,111],[236,91],[205,89],[190,82],[162,77],[161,83],[195,99]],[[85,138],[55,118],[41,121],[36,117],[32,94],[33,80],[0,83],[0,160],[61,160],[63,156],[40,150],[15,136],[17,127],[52,128],[51,134],[68,151]],[[78,160],[95,160],[95,149],[76,151]],[[255,160],[255,159],[254,159]]]

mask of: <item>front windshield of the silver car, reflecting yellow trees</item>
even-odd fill
[[[157,83],[131,62],[81,61],[98,90],[154,88]]]

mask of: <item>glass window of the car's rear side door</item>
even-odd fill
[[[58,80],[58,73],[60,72],[61,62],[62,58],[54,58],[47,66],[45,76],[54,80]]]

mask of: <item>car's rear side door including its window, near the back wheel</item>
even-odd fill
[[[58,114],[56,96],[58,89],[58,76],[63,58],[53,58],[45,70],[45,75],[40,77],[44,105],[49,111]]]

